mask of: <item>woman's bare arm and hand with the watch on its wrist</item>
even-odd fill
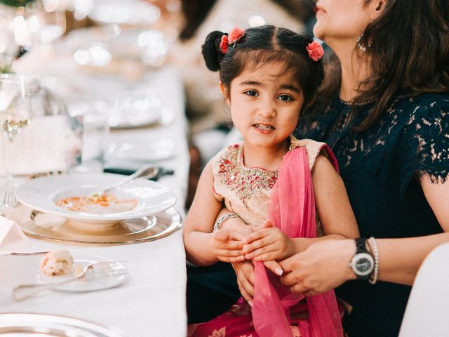
[[[378,279],[398,284],[413,284],[417,270],[429,252],[449,242],[449,183],[420,179],[422,190],[434,210],[442,234],[403,239],[377,239]],[[306,251],[281,261],[285,272],[282,282],[297,293],[322,293],[355,279],[348,263],[356,251],[354,240],[331,240],[313,244]]]

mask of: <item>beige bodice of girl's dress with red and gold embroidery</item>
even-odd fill
[[[290,136],[289,150],[305,147],[309,169],[325,143]],[[326,155],[326,153],[323,153]],[[229,211],[236,213],[247,225],[262,225],[267,220],[269,194],[278,178],[278,171],[248,168],[243,164],[243,143],[229,145],[212,159],[214,194],[225,201]],[[319,230],[317,222],[317,230]],[[321,228],[319,230],[321,234]]]

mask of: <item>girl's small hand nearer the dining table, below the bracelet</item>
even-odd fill
[[[210,244],[212,251],[222,262],[239,262],[245,260],[241,239],[243,235],[234,230],[217,230],[213,233]]]

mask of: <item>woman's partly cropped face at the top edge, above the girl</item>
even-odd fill
[[[314,35],[331,48],[339,41],[356,43],[376,16],[377,0],[319,0],[316,2]]]

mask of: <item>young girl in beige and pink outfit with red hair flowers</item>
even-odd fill
[[[276,263],[321,239],[358,237],[332,152],[324,143],[291,136],[323,79],[322,55],[311,39],[273,26],[206,38],[206,65],[220,72],[243,142],[204,168],[185,220],[185,249],[196,265],[253,260],[255,297],[189,326],[189,336],[343,335],[333,291],[293,296],[279,283]],[[224,205],[230,212],[215,222]],[[226,228],[229,218],[241,221]]]

